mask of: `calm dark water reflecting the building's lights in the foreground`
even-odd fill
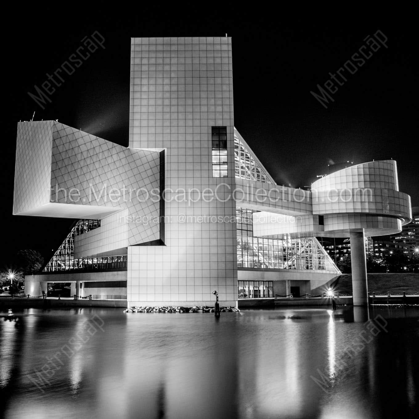
[[[419,308],[1,314],[5,418],[419,417]]]

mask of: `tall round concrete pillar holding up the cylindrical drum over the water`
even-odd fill
[[[352,292],[354,306],[368,305],[367,259],[365,257],[364,229],[349,231],[351,241]]]

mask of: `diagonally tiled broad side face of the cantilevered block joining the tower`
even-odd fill
[[[158,152],[129,149],[57,122],[54,123],[53,137],[52,202],[99,205],[116,210],[126,208],[127,213],[123,214],[130,217],[122,217],[119,213],[119,217],[114,218],[118,221],[114,221],[112,228],[116,228],[116,222],[121,224],[116,248],[159,238],[160,204],[151,196],[151,192],[160,186]],[[123,188],[127,189],[124,195]],[[70,191],[78,193],[72,198]],[[115,191],[121,195],[114,195]],[[148,195],[137,194],[137,191],[147,191]],[[153,221],[144,222],[144,219]],[[122,224],[127,225],[127,243],[120,246]],[[101,231],[99,228],[96,234]]]

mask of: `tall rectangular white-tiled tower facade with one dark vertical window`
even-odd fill
[[[129,147],[162,153],[165,190],[160,241],[128,247],[128,305],[235,305],[230,38],[132,38]]]

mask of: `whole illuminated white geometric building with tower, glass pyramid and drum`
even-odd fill
[[[365,304],[364,235],[411,220],[395,161],[311,191],[277,185],[234,127],[228,37],[132,38],[130,86],[129,147],[18,124],[13,214],[79,220],[29,294],[48,282],[128,306],[305,294],[340,273],[322,235],[351,238],[354,303]]]

